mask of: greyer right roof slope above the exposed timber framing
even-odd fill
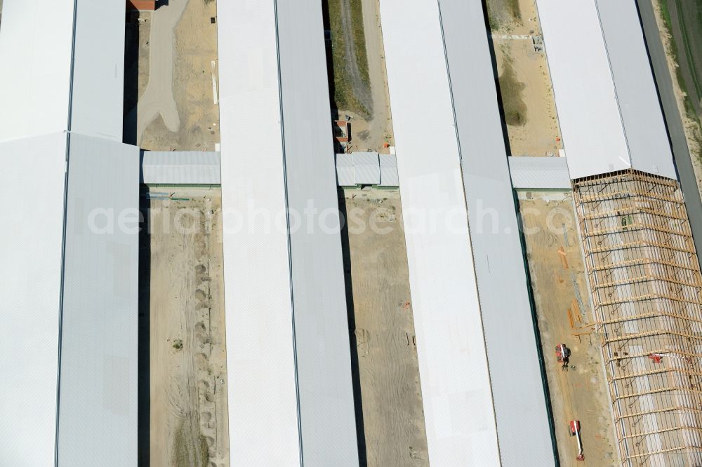
[[[597,0],[633,168],[677,179],[635,0]]]

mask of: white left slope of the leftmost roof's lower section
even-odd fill
[[[1,466],[54,463],[65,160],[64,133],[0,143]]]

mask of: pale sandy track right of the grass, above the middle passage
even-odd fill
[[[392,119],[390,117],[390,97],[388,77],[385,74],[385,52],[383,32],[380,26],[380,5],[378,0],[361,0],[363,5],[363,27],[366,36],[368,75],[371,82],[371,119],[366,120],[347,109],[339,109],[341,119],[352,117],[351,143],[349,151],[378,151],[388,153],[385,142],[394,144],[392,139]]]

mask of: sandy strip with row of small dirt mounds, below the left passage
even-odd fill
[[[210,215],[221,194],[170,192],[187,201],[150,203],[150,465],[229,466],[221,226]]]

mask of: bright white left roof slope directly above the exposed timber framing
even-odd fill
[[[571,177],[630,168],[595,0],[536,5]]]

